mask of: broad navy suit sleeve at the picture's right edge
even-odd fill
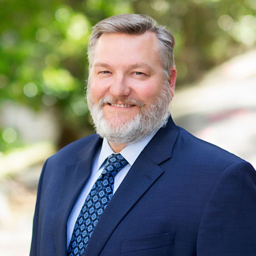
[[[238,160],[225,168],[204,208],[197,256],[256,255],[256,171]]]

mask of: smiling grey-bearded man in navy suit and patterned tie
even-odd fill
[[[172,121],[173,47],[144,15],[93,28],[97,134],[44,164],[31,256],[256,255],[256,172]]]

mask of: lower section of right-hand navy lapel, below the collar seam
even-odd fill
[[[98,256],[124,215],[164,172],[140,154],[104,210],[89,240],[84,256]]]

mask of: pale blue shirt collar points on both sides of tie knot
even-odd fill
[[[154,135],[158,132],[158,130],[154,130],[153,133],[146,136],[139,142],[135,142],[132,144],[127,145],[120,154],[128,161],[130,165],[133,165],[135,160],[138,158],[141,151],[145,148],[145,146],[150,142],[150,140],[154,137]],[[100,167],[105,162],[105,160],[110,156],[111,154],[115,154],[111,146],[108,144],[107,139],[103,138],[103,143],[101,146],[100,155],[98,157],[98,163],[97,163],[97,171],[100,170]]]

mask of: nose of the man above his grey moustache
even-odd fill
[[[116,75],[110,85],[110,94],[116,98],[128,96],[131,92],[124,75]]]

